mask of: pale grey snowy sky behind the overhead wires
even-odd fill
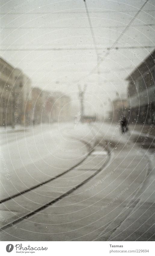
[[[98,55],[105,55],[144,2],[86,0]],[[0,55],[23,69],[32,86],[61,90],[73,100],[77,100],[77,82],[87,83],[87,109],[101,111],[116,90],[121,97],[126,95],[124,79],[153,51],[154,4],[154,0],[146,3],[116,44],[122,49],[104,58],[99,77],[89,74],[97,58],[83,0],[1,0]],[[123,49],[127,44],[139,49]],[[18,52],[11,58],[14,51]]]

